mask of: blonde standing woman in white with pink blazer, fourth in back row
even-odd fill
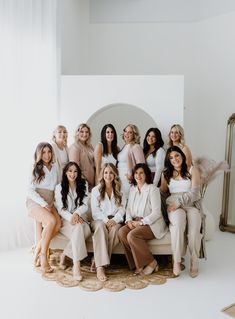
[[[122,138],[125,142],[118,153],[118,172],[122,182],[123,193],[128,198],[132,170],[138,163],[145,163],[143,149],[140,146],[140,134],[136,125],[128,124],[123,129]]]

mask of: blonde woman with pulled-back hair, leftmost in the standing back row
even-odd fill
[[[63,168],[69,161],[68,155],[68,131],[65,126],[58,125],[53,131],[51,145],[53,147],[55,162],[58,165],[58,181],[61,181]]]

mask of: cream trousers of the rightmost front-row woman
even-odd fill
[[[187,229],[188,247],[193,258],[199,257],[202,234],[201,215],[196,207],[184,207],[168,213],[170,220],[171,248],[174,261],[180,262],[185,254],[185,230]],[[187,227],[186,227],[187,226]]]

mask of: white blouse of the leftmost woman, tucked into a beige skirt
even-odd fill
[[[32,169],[33,170],[33,169]],[[38,194],[36,191],[37,188],[47,189],[54,191],[58,181],[58,167],[54,163],[52,164],[51,170],[49,170],[45,165],[43,166],[43,171],[45,173],[44,178],[40,182],[33,180],[33,177],[30,178],[30,185],[28,188],[28,198],[35,201],[42,207],[46,207],[48,203]]]

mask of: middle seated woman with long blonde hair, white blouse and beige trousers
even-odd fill
[[[125,200],[118,171],[112,163],[104,165],[101,176],[91,193],[91,225],[97,278],[106,281],[104,266],[110,264],[113,248],[119,243],[117,232],[123,222]]]

